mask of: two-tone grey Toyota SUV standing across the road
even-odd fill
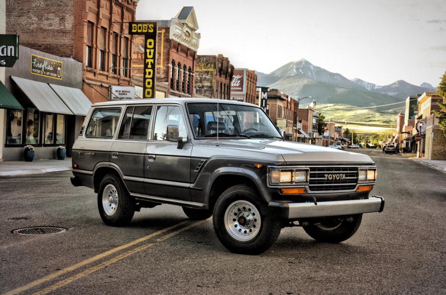
[[[263,109],[205,98],[136,99],[92,106],[72,151],[74,186],[94,189],[105,224],[163,203],[195,220],[213,216],[230,251],[257,254],[281,228],[339,243],[372,197],[376,165],[365,154],[286,142]]]

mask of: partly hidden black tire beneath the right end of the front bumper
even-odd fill
[[[349,218],[352,220],[348,220]],[[304,226],[305,232],[319,242],[324,243],[340,243],[356,233],[361,224],[362,214],[348,216],[348,217],[334,217],[327,218],[327,221],[320,225],[310,224]],[[331,229],[332,228],[332,229]]]

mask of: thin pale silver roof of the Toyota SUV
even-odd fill
[[[249,106],[257,106],[252,103],[239,102],[234,100],[226,99],[214,99],[214,98],[145,98],[145,99],[125,99],[125,100],[112,100],[106,102],[97,102],[93,106],[104,106],[104,105],[116,105],[116,104],[139,104],[139,103],[185,103],[185,102],[208,102],[208,103],[231,103],[231,104],[241,104]],[[257,106],[258,107],[258,106]]]

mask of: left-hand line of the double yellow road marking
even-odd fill
[[[132,241],[132,242],[130,242],[130,243],[127,243],[127,244],[125,244],[125,245],[117,246],[117,247],[112,248],[112,249],[110,249],[110,250],[108,250],[108,251],[105,251],[105,252],[103,252],[103,253],[100,253],[100,254],[98,254],[98,255],[96,255],[96,256],[93,256],[93,257],[91,257],[91,258],[85,259],[85,260],[83,260],[83,261],[81,261],[81,262],[78,262],[78,263],[73,264],[73,265],[71,265],[71,266],[68,266],[68,267],[66,267],[66,268],[64,268],[64,269],[61,269],[61,270],[59,270],[59,271],[56,271],[56,272],[54,272],[54,273],[52,273],[52,274],[49,274],[48,276],[45,276],[45,277],[43,277],[43,278],[41,278],[41,279],[35,280],[35,281],[33,281],[33,282],[29,283],[29,284],[26,284],[26,285],[24,285],[24,286],[22,286],[22,287],[15,288],[14,290],[11,290],[11,291],[9,291],[8,293],[5,293],[4,295],[18,294],[18,293],[20,293],[20,292],[26,291],[26,290],[31,289],[31,288],[33,288],[33,287],[36,287],[36,286],[38,286],[38,285],[40,285],[40,284],[43,284],[43,283],[48,282],[48,281],[50,281],[50,280],[53,280],[53,279],[55,279],[55,278],[57,278],[57,277],[60,277],[61,275],[64,275],[64,274],[66,274],[66,273],[68,273],[68,272],[70,272],[70,271],[73,271],[73,270],[75,270],[75,269],[78,269],[79,267],[85,266],[85,265],[90,264],[90,263],[92,263],[92,262],[94,262],[94,261],[96,261],[96,260],[99,260],[99,259],[101,259],[101,258],[104,258],[104,257],[106,257],[106,256],[108,256],[108,255],[110,255],[110,254],[113,254],[113,253],[115,253],[115,252],[117,252],[117,251],[119,251],[119,250],[122,250],[122,249],[128,248],[128,247],[130,247],[130,246],[134,246],[134,245],[136,245],[136,244],[139,244],[139,243],[141,243],[141,242],[147,241],[147,240],[149,240],[150,238],[153,238],[153,237],[155,237],[155,236],[161,235],[161,234],[163,234],[163,233],[165,233],[165,232],[167,232],[167,231],[169,231],[169,230],[171,230],[171,229],[174,229],[174,228],[176,228],[176,227],[179,227],[179,226],[181,226],[181,225],[183,225],[183,224],[185,224],[185,223],[188,223],[188,222],[189,222],[188,220],[182,221],[182,222],[177,223],[177,224],[175,224],[175,225],[169,226],[169,227],[167,227],[167,228],[165,228],[165,229],[159,230],[158,232],[155,232],[155,233],[152,233],[152,234],[147,235],[147,236],[145,236],[145,237],[142,237],[142,238],[140,238],[140,239],[134,240],[134,241]]]

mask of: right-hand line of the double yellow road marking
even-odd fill
[[[173,236],[175,236],[175,235],[177,235],[177,234],[179,234],[179,233],[181,233],[181,232],[183,232],[185,230],[188,230],[188,229],[190,229],[192,227],[195,227],[195,226],[197,226],[197,225],[199,225],[199,224],[201,224],[203,222],[205,222],[205,220],[201,220],[201,221],[197,221],[197,222],[194,222],[192,224],[189,224],[188,226],[185,226],[183,228],[180,228],[179,230],[176,230],[176,231],[174,231],[174,232],[172,232],[170,234],[167,234],[163,238],[157,239],[157,242],[162,242],[162,241],[164,241],[164,240],[166,240],[168,238],[171,238],[171,237],[173,237]],[[128,250],[128,251],[126,251],[126,252],[124,252],[124,253],[116,256],[116,257],[111,258],[110,260],[104,261],[104,262],[102,262],[102,263],[100,263],[98,265],[95,265],[95,266],[92,266],[90,268],[87,268],[86,270],[84,270],[84,271],[82,271],[82,272],[80,272],[78,274],[75,274],[74,276],[71,276],[71,277],[69,277],[67,279],[61,280],[61,281],[57,282],[56,284],[53,284],[53,285],[51,285],[51,286],[49,286],[49,287],[47,287],[45,289],[37,291],[36,293],[33,293],[33,295],[43,295],[43,294],[48,294],[50,292],[53,292],[53,291],[55,291],[56,289],[58,289],[58,288],[60,288],[62,286],[68,285],[68,284],[70,284],[70,283],[72,283],[72,282],[74,282],[74,281],[76,281],[76,280],[78,280],[80,278],[88,276],[89,274],[91,274],[91,273],[93,273],[95,271],[103,269],[104,267],[109,266],[112,263],[115,263],[115,262],[117,262],[117,261],[119,261],[119,260],[121,260],[121,259],[123,259],[125,257],[128,257],[128,256],[130,256],[130,255],[132,255],[134,253],[142,251],[142,250],[144,250],[144,249],[146,249],[146,248],[148,248],[150,246],[153,246],[153,245],[155,245],[155,244],[146,244],[146,245],[134,248],[132,250]]]

